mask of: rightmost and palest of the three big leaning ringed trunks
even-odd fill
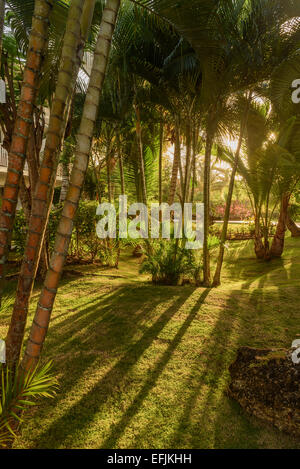
[[[59,279],[68,252],[73,229],[73,221],[78,207],[80,193],[88,168],[92,137],[98,114],[102,85],[106,73],[111,40],[116,24],[120,0],[107,0],[103,11],[99,36],[94,53],[90,83],[86,95],[80,129],[77,135],[75,162],[70,177],[70,186],[64,204],[62,217],[56,234],[50,268],[40,295],[23,367],[30,369],[39,360],[49,327],[51,312],[59,284]]]

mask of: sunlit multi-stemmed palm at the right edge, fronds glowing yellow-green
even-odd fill
[[[270,129],[274,130],[273,116],[267,115],[266,109],[264,105],[252,104],[247,122],[248,151],[245,160],[239,160],[238,171],[248,187],[255,216],[255,254],[258,259],[270,260],[283,251],[288,202],[299,180],[300,166],[295,152],[299,148],[296,118],[281,125],[274,140],[270,133]],[[272,216],[278,204],[280,216],[270,249]]]

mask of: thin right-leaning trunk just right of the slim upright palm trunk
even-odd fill
[[[233,163],[231,176],[230,176],[230,182],[229,182],[229,188],[228,188],[228,194],[227,194],[227,200],[226,200],[226,209],[225,209],[225,214],[224,214],[224,222],[223,222],[223,228],[222,228],[222,234],[221,234],[221,242],[220,242],[220,248],[219,248],[219,256],[218,256],[217,266],[216,266],[214,280],[213,280],[214,287],[217,287],[218,285],[221,284],[221,271],[222,271],[222,265],[223,265],[223,259],[224,259],[225,243],[227,239],[232,194],[233,194],[233,189],[234,189],[235,176],[236,176],[236,172],[237,172],[239,160],[240,160],[240,152],[241,152],[242,143],[243,143],[246,125],[247,125],[247,120],[248,120],[251,99],[252,99],[252,94],[250,94],[247,100],[245,112],[241,121],[240,136],[239,136],[238,146],[236,149],[234,163]]]

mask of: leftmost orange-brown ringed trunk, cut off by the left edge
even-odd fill
[[[2,295],[5,281],[4,268],[11,243],[40,71],[48,43],[49,16],[52,7],[53,0],[35,1],[21,97],[14,124],[2,198],[0,215],[0,295]]]

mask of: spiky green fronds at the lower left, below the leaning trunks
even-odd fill
[[[36,404],[39,397],[53,398],[58,387],[51,373],[52,362],[41,368],[16,373],[0,365],[0,447],[6,447],[15,437],[16,427],[23,422],[22,414]]]

